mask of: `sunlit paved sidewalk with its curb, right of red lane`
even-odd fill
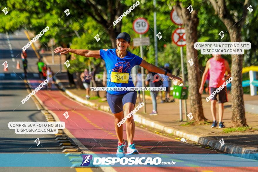
[[[59,87],[65,91],[70,97],[75,100],[89,105],[91,107],[109,111],[108,103],[102,102],[100,99],[86,100],[85,90],[76,90],[67,86],[68,80],[65,73],[58,73],[55,75],[56,83]],[[103,96],[104,93],[100,93]],[[203,95],[203,111],[205,117],[212,121],[210,113],[210,103],[205,101],[208,95]],[[228,95],[229,102],[225,103],[224,109],[224,125],[230,126],[231,120],[231,96]],[[258,100],[258,96],[244,95],[244,99],[249,102],[255,102]],[[147,114],[143,114],[143,108],[141,108],[135,115],[134,120],[142,125],[147,125],[163,132],[171,133],[179,137],[183,137],[186,140],[192,140],[202,145],[210,146],[212,149],[217,149],[229,154],[249,154],[258,152],[258,130],[248,130],[245,132],[230,132],[223,133],[223,129],[210,128],[211,124],[206,125],[186,125],[186,122],[179,121],[179,100],[176,99],[174,103],[160,103],[160,98],[157,100],[157,110],[159,115],[150,116],[152,111],[152,103],[150,98],[146,98],[146,111]],[[138,104],[138,100],[137,103]],[[249,104],[251,105],[251,104]],[[190,104],[187,101],[187,112],[190,113]],[[247,109],[246,109],[247,110]],[[258,109],[256,109],[258,112]],[[249,127],[258,129],[258,114],[246,113],[247,124]],[[183,115],[184,116],[184,115]],[[184,117],[183,117],[184,118]],[[225,144],[223,146],[218,142],[220,139],[224,139]],[[254,154],[252,154],[254,155]],[[250,155],[250,156],[252,156]],[[250,158],[250,157],[249,157]],[[257,157],[252,157],[252,159]]]

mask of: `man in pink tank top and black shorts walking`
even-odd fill
[[[213,93],[217,88],[219,88],[223,83],[228,80],[231,76],[230,68],[227,60],[223,59],[220,55],[212,55],[213,57],[210,58],[207,63],[206,67],[202,76],[201,86],[199,88],[199,93],[203,93],[203,86],[206,81],[206,78],[208,76],[208,72],[210,73],[210,81],[209,81],[209,93]],[[225,72],[227,71],[227,75],[225,75]],[[218,122],[216,120],[216,102],[217,95],[219,98],[219,128],[224,128],[225,125],[223,125],[222,118],[223,118],[223,111],[224,111],[224,105],[223,103],[228,101],[227,97],[227,89],[224,87],[219,92],[215,93],[215,96],[211,98],[211,114],[213,117],[213,124],[211,128],[217,127]]]

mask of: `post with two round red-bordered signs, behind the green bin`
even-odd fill
[[[184,60],[183,60],[183,46],[186,45],[186,35],[184,28],[181,28],[181,25],[183,25],[183,22],[180,20],[179,16],[177,16],[176,11],[172,10],[170,13],[171,21],[177,25],[179,25],[179,28],[177,28],[173,34],[172,34],[172,40],[173,42],[180,47],[180,59],[181,59],[181,71],[182,71],[182,77],[183,77],[183,83],[185,85],[185,75],[184,75]],[[179,99],[179,114],[180,114],[180,121],[183,121],[183,114],[182,114],[182,99]],[[186,106],[186,99],[184,99],[184,113],[185,113],[185,119],[187,120],[187,106]]]

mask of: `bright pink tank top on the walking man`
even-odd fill
[[[211,59],[209,59],[209,61],[210,61],[209,87],[218,88],[225,82],[224,80],[224,75],[226,71],[225,59],[220,57],[220,59],[215,60],[214,57],[212,57]]]

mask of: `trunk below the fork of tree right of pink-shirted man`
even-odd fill
[[[229,30],[231,42],[242,42],[241,40],[241,28],[237,25],[233,26]],[[245,119],[245,105],[244,105],[244,92],[242,87],[242,64],[244,55],[231,55],[231,77],[232,80],[232,127],[247,126]]]

